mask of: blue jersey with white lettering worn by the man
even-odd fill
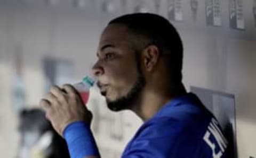
[[[193,93],[173,99],[146,121],[123,158],[224,158],[228,142],[218,121]]]

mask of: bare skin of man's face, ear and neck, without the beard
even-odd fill
[[[108,103],[127,98],[127,94],[138,83],[139,76],[142,76],[145,85],[135,97],[129,98],[132,100],[129,105],[119,107],[118,110],[130,109],[144,121],[174,96],[186,93],[183,84],[171,84],[159,49],[149,43],[132,34],[124,24],[110,24],[100,38],[99,60],[93,67]],[[102,50],[105,46],[111,47]]]

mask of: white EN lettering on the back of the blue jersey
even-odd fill
[[[226,138],[223,136],[220,128],[218,127],[218,121],[216,119],[212,118],[207,128],[208,130],[206,130],[206,133],[204,135],[204,141],[212,149],[213,158],[220,158],[222,154],[225,152],[228,142]],[[214,144],[214,142],[211,142],[210,140],[211,135],[214,137],[217,144]],[[215,151],[215,147],[217,145],[220,148],[219,151]]]

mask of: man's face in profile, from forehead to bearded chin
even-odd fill
[[[139,52],[132,40],[123,24],[108,25],[100,38],[93,73],[110,110],[130,109],[145,85]]]

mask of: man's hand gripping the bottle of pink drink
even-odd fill
[[[45,110],[46,118],[51,121],[53,128],[61,136],[71,122],[91,123],[92,113],[87,110],[81,96],[72,85],[66,84],[63,89],[52,86],[50,92],[39,104]]]

